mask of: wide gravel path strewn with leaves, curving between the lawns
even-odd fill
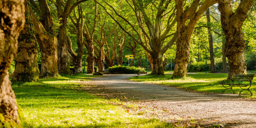
[[[237,95],[195,93],[174,87],[144,84],[126,80],[131,74],[104,75],[92,78],[88,84],[96,85],[97,92],[109,97],[136,99],[139,105],[133,113],[147,118],[178,123],[178,126],[212,127],[222,124],[225,127],[255,128],[256,101],[237,98]],[[95,91],[91,89],[90,91]]]

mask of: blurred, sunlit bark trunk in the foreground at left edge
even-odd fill
[[[8,69],[17,54],[19,32],[25,23],[24,12],[23,0],[0,1],[0,127],[21,127]]]

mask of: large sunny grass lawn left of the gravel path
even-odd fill
[[[158,119],[132,115],[122,101],[87,93],[89,75],[58,76],[40,83],[13,84],[26,122],[36,128],[172,127]],[[118,104],[118,105],[114,105]]]

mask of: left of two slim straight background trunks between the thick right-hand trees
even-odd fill
[[[206,10],[206,14],[210,14],[210,8]],[[210,15],[206,15],[207,23],[211,23]],[[213,50],[213,35],[210,32],[210,28],[208,29],[208,40],[209,40],[209,50],[210,50],[210,60],[211,60],[211,72],[217,73],[215,61],[214,61],[214,50]]]

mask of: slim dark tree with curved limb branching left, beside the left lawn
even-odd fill
[[[69,60],[71,61],[71,63],[74,65],[75,68],[75,74],[81,74],[83,73],[82,71],[82,57],[83,57],[83,53],[84,53],[84,49],[83,49],[83,28],[84,28],[84,20],[83,20],[83,9],[81,7],[81,5],[79,4],[77,6],[77,11],[78,11],[78,17],[76,16],[76,12],[75,10],[73,11],[73,18],[71,16],[69,16],[71,22],[73,23],[73,29],[68,27],[70,29],[70,31],[72,31],[73,33],[76,34],[76,44],[78,47],[78,51],[77,54],[72,50],[72,41],[69,38],[68,35],[67,38],[67,49],[69,52]]]

